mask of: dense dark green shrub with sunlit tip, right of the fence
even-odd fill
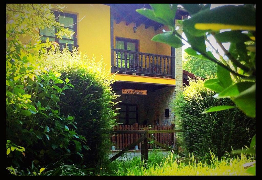
[[[247,117],[238,108],[202,114],[210,106],[233,105],[228,99],[216,99],[216,93],[204,87],[204,81],[190,80],[189,86],[174,101],[176,127],[184,130],[182,148],[205,156],[209,148],[217,156],[226,151],[249,145],[255,134],[255,119]]]

